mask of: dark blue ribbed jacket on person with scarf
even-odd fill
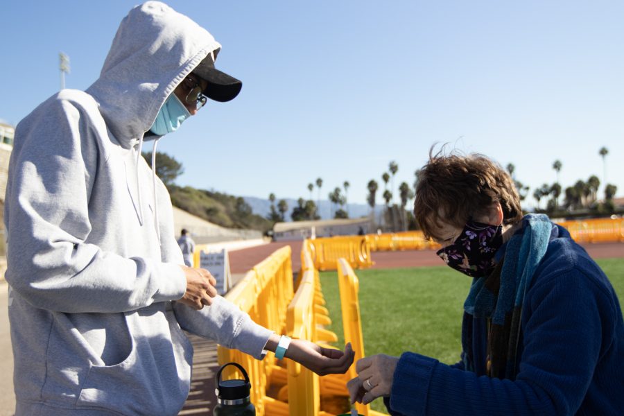
[[[391,415],[623,415],[624,322],[604,272],[557,227],[523,306],[519,373],[491,379],[401,355]],[[485,331],[477,347],[485,349]]]

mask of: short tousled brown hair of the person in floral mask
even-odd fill
[[[487,214],[494,202],[503,208],[503,223],[522,219],[520,197],[510,175],[485,155],[444,155],[444,146],[417,173],[414,215],[427,239],[447,223],[463,228],[469,218]]]

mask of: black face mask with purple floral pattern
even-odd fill
[[[489,275],[494,254],[503,245],[503,227],[469,220],[451,245],[437,251],[444,263],[471,277]]]

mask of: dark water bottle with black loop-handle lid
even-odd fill
[[[241,370],[244,380],[221,380],[221,372],[228,365]],[[214,416],[255,416],[256,408],[250,401],[251,383],[245,369],[238,363],[227,363],[219,368],[215,377],[217,405]]]

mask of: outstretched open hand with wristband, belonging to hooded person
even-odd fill
[[[320,376],[347,372],[354,356],[351,343],[345,346],[343,352],[340,349],[323,348],[310,341],[293,339],[286,350],[287,358],[297,361]]]

